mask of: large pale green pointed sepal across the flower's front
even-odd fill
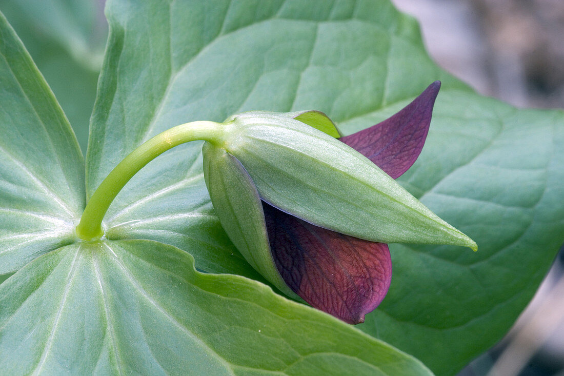
[[[452,244],[476,250],[359,152],[284,114],[232,116],[225,141],[263,200],[312,224],[382,243]]]

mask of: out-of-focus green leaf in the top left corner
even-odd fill
[[[45,76],[86,152],[107,38],[102,2],[0,0],[0,10]]]

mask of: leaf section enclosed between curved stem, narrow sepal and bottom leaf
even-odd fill
[[[108,239],[149,239],[194,253],[197,267],[261,279],[230,242],[215,215],[202,171],[201,143],[165,153],[127,183],[109,208]],[[164,170],[165,169],[165,170]]]

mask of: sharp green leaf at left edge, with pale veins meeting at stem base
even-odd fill
[[[67,118],[0,14],[0,274],[74,241],[84,164]]]

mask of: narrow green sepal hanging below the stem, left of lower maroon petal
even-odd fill
[[[223,229],[245,260],[284,294],[301,300],[280,276],[270,252],[257,188],[245,168],[225,149],[204,143],[204,178]]]

